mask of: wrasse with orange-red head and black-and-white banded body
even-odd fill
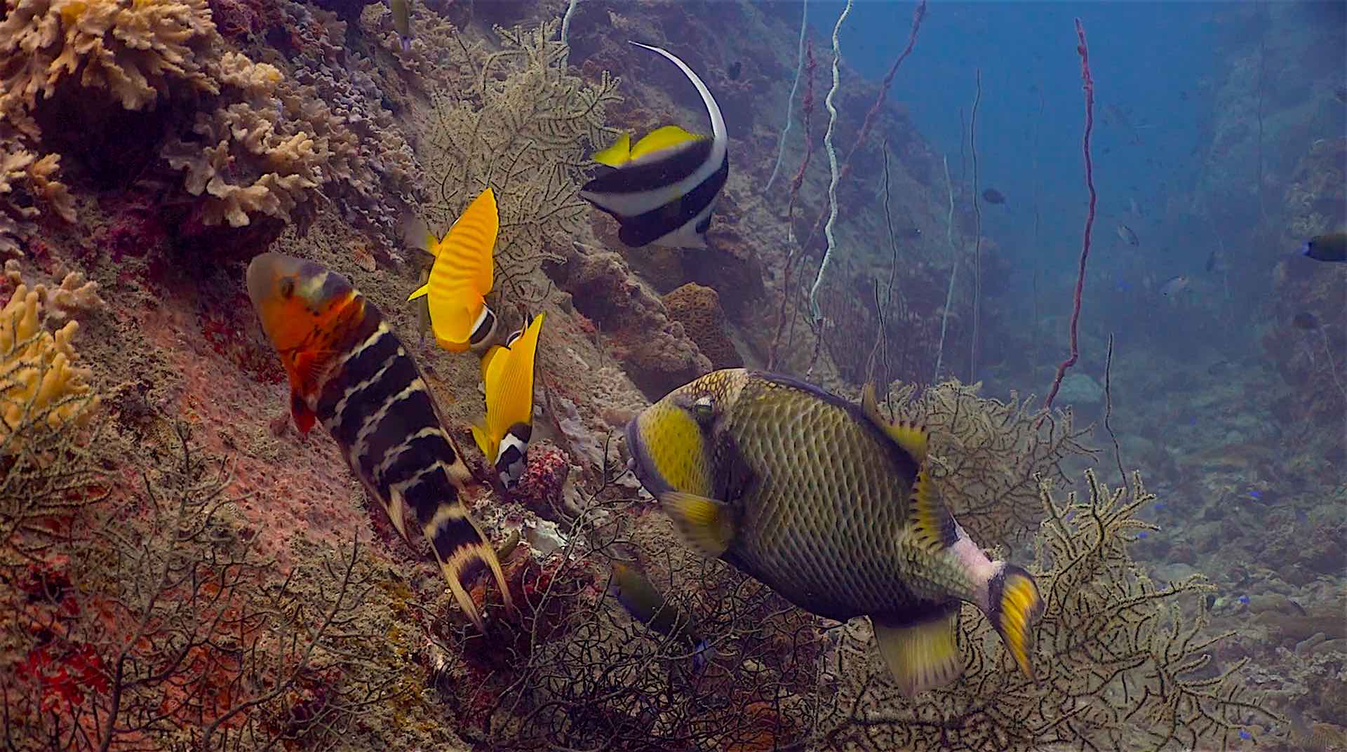
[[[489,539],[467,513],[471,472],[416,363],[383,314],[342,275],[313,261],[263,253],[248,264],[248,295],[290,375],[302,433],[331,433],[350,470],[408,539],[404,505],[430,540],[449,589],[484,629],[467,585],[486,565],[511,606]]]

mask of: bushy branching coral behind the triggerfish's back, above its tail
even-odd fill
[[[1076,429],[1070,410],[1030,410],[1029,402],[982,398],[977,384],[958,380],[920,394],[898,384],[889,395],[897,418],[929,429],[936,488],[982,546],[1012,546],[1033,534],[1043,518],[1034,477],[1065,482],[1061,462],[1095,453],[1082,446],[1090,429]]]

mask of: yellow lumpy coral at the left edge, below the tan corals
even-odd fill
[[[73,287],[61,290],[74,295],[78,279],[67,279]],[[59,429],[70,420],[82,422],[90,415],[88,408],[97,406],[98,398],[90,395],[92,372],[74,365],[70,340],[79,322],[67,321],[47,332],[40,305],[44,296],[40,284],[32,290],[19,284],[0,309],[0,454],[18,453],[28,426]]]

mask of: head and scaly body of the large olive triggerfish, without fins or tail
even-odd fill
[[[707,449],[695,468],[667,478],[643,462],[641,447],[679,443],[657,427],[678,426],[668,410],[679,406],[691,406]],[[974,597],[964,562],[916,543],[917,461],[859,407],[810,384],[744,369],[703,376],[638,416],[629,446],[656,496],[668,489],[723,501],[734,535],[722,558],[800,608],[835,620],[904,619]]]

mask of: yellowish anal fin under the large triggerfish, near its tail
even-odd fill
[[[917,620],[872,616],[870,624],[880,655],[905,697],[942,687],[963,672],[956,602]]]

